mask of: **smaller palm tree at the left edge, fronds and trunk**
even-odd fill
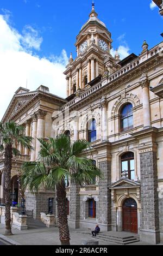
[[[23,126],[16,124],[14,121],[8,121],[0,122],[0,139],[0,151],[4,152],[5,168],[5,235],[12,235],[10,213],[12,157],[20,154],[16,145],[32,149],[30,146],[32,138],[24,135]]]

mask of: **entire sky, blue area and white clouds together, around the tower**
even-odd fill
[[[88,19],[91,2],[1,0],[0,68],[4,76],[0,84],[5,88],[1,96],[5,101],[1,99],[0,118],[14,92],[27,81],[30,90],[45,84],[52,93],[65,97],[62,72],[70,52],[76,57],[74,43]],[[162,17],[151,2],[95,1],[98,17],[112,33],[112,46],[119,48],[122,58],[132,52],[139,55],[143,40],[149,48],[162,41]]]

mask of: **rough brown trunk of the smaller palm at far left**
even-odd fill
[[[12,235],[11,232],[11,168],[12,168],[12,145],[5,146],[5,235]]]

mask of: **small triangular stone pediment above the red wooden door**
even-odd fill
[[[111,184],[109,189],[136,188],[136,187],[140,187],[140,183],[128,180],[128,178],[121,178],[121,180]]]

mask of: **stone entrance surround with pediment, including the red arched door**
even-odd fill
[[[140,184],[122,178],[110,187],[112,231],[138,233],[140,228]]]

